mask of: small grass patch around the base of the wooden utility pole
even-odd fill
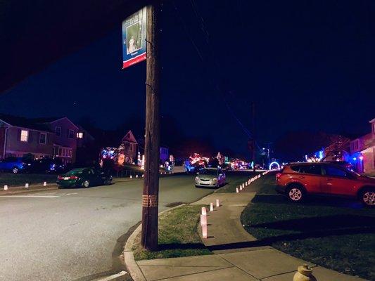
[[[159,250],[141,248],[140,235],[133,247],[134,259],[166,259],[179,256],[212,254],[205,248],[197,232],[201,208],[204,205],[184,205],[159,215]]]

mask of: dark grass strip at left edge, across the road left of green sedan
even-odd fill
[[[11,174],[0,173],[0,186],[8,185],[8,187],[25,185],[25,183],[56,183],[57,175],[51,174]]]

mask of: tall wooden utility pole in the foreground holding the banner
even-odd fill
[[[158,194],[160,153],[160,87],[158,61],[158,14],[160,8],[147,6],[146,136],[144,192],[142,196],[142,237],[145,249],[158,249]]]

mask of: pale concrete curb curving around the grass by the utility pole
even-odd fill
[[[179,204],[175,207],[172,207],[170,209],[160,211],[158,216],[160,214],[164,214],[167,211],[172,211],[173,209],[176,209],[178,207],[182,207],[186,204]],[[134,254],[133,254],[133,245],[134,240],[139,233],[141,233],[142,230],[142,224],[139,223],[139,226],[133,231],[133,233],[127,238],[127,242],[125,243],[124,251],[122,251],[122,254],[124,256],[124,263],[125,268],[127,269],[127,273],[132,277],[132,280],[134,281],[146,281],[146,278],[144,277],[144,274],[141,271],[141,268],[136,264],[136,261],[134,260]]]

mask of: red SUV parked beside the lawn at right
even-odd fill
[[[307,195],[356,197],[368,207],[375,207],[375,178],[361,176],[332,163],[290,163],[276,175],[276,190],[292,202]]]

